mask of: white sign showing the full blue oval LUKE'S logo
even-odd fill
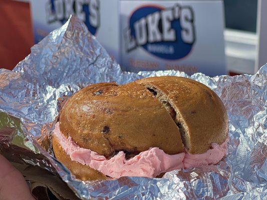
[[[121,0],[125,70],[226,73],[221,0]]]

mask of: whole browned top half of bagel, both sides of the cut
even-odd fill
[[[130,157],[150,147],[176,154],[185,146],[196,154],[225,141],[228,119],[220,98],[204,84],[161,76],[81,89],[65,103],[60,129],[107,158],[120,150]]]

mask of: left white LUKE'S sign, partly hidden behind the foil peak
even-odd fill
[[[36,43],[75,14],[119,61],[118,0],[32,0],[31,8]]]

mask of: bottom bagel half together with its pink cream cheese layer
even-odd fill
[[[119,178],[121,176],[158,177],[174,169],[216,164],[227,152],[227,139],[222,144],[211,143],[201,154],[184,152],[169,155],[158,147],[126,158],[123,151],[106,158],[95,151],[80,147],[70,136],[60,130],[59,123],[53,131],[53,149],[56,158],[82,180]]]

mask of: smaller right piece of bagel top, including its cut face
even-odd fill
[[[219,96],[206,85],[179,76],[147,77],[136,82],[153,92],[168,110],[190,153],[204,153],[212,142],[222,144],[226,140],[226,109]]]

